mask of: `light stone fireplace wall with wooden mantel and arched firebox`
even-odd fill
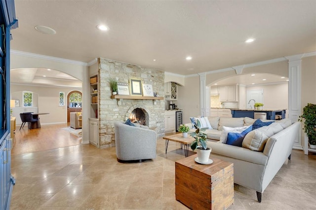
[[[129,83],[130,78],[138,78],[142,84],[150,84],[153,91],[164,96],[164,71],[146,68],[116,60],[99,59],[99,145],[100,148],[115,146],[115,121],[126,121],[134,115],[141,124],[155,130],[157,136],[164,135],[164,100],[132,97],[111,98],[108,79]]]

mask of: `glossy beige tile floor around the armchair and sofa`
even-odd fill
[[[10,210],[185,210],[174,185],[174,162],[183,151],[169,142],[165,154],[165,141],[157,142],[156,159],[132,164],[118,163],[115,148],[91,145],[12,155]],[[254,190],[235,184],[229,210],[315,210],[315,194],[316,156],[293,150],[262,203]]]

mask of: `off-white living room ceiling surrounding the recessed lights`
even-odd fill
[[[316,51],[316,0],[15,0],[15,8],[12,50],[82,62],[191,75]]]

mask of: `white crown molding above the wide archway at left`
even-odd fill
[[[51,57],[51,56],[39,55],[35,53],[28,53],[28,52],[22,52],[22,51],[17,51],[17,50],[10,50],[10,53],[12,55],[17,55],[17,56],[25,56],[29,58],[35,58],[35,59],[51,60],[51,61],[56,61],[56,62],[64,62],[64,63],[70,63],[70,64],[75,64],[75,65],[88,66],[88,63],[86,62],[61,59],[61,58],[56,58],[56,57]]]

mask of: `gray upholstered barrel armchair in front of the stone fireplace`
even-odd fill
[[[115,122],[115,146],[118,162],[156,158],[155,131]]]

